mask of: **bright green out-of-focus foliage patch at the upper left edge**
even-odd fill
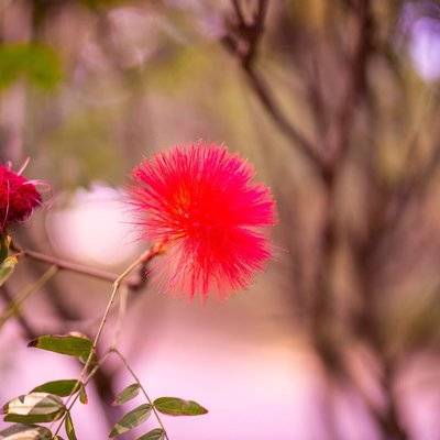
[[[0,90],[22,78],[40,89],[54,88],[62,79],[59,57],[44,44],[2,44],[0,72]]]

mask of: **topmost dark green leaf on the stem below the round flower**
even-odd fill
[[[87,359],[92,349],[90,339],[74,334],[44,334],[31,341],[28,346],[54,351],[55,353]]]

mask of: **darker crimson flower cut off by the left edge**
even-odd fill
[[[34,182],[0,165],[0,232],[11,222],[25,220],[41,202]]]

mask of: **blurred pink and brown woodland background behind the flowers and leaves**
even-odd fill
[[[129,292],[119,346],[150,394],[210,411],[164,416],[170,439],[440,439],[439,79],[438,1],[0,0],[0,158],[52,188],[13,237],[119,273],[146,245],[121,205],[132,166],[224,143],[273,188],[276,255],[228,301]],[[46,268],[23,260],[3,310]],[[109,293],[61,272],[23,304],[2,403],[79,374],[26,342],[94,336]],[[79,439],[108,437],[131,382],[103,365]]]

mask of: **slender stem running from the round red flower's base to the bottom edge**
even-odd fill
[[[118,295],[119,287],[121,286],[121,283],[139,265],[147,263],[154,256],[160,254],[161,253],[161,248],[162,248],[161,244],[151,246],[141,256],[139,256],[133,263],[131,263],[130,266],[127,267],[125,271],[123,271],[122,274],[119,275],[118,278],[113,282],[113,288],[111,290],[110,299],[107,302],[106,310],[105,310],[103,316],[101,318],[101,322],[99,323],[99,328],[98,328],[98,331],[96,333],[96,337],[95,337],[95,340],[94,340],[92,348],[90,350],[89,356],[87,358],[86,364],[84,365],[84,369],[82,369],[82,371],[81,371],[81,373],[79,375],[78,381],[75,384],[75,387],[72,389],[70,395],[67,397],[67,400],[66,400],[66,404],[65,404],[66,407],[67,407],[67,411],[69,411],[72,409],[72,407],[75,405],[75,402],[77,400],[77,397],[78,397],[78,393],[77,392],[79,391],[80,384],[85,380],[87,371],[88,371],[88,369],[89,369],[89,366],[91,364],[91,361],[92,361],[94,355],[96,353],[96,349],[98,346],[98,342],[101,339],[103,328],[106,327],[106,323],[107,323],[107,320],[108,320],[108,317],[109,317],[109,314],[110,314],[110,309],[114,304],[114,300],[116,300],[117,295]],[[75,394],[76,394],[76,396],[75,396]],[[53,435],[53,439],[59,432],[59,430],[61,430],[61,428],[62,428],[62,426],[64,424],[65,418],[66,418],[66,415],[62,418],[61,422],[58,424],[58,427],[56,428],[56,430],[55,430],[55,432]]]

